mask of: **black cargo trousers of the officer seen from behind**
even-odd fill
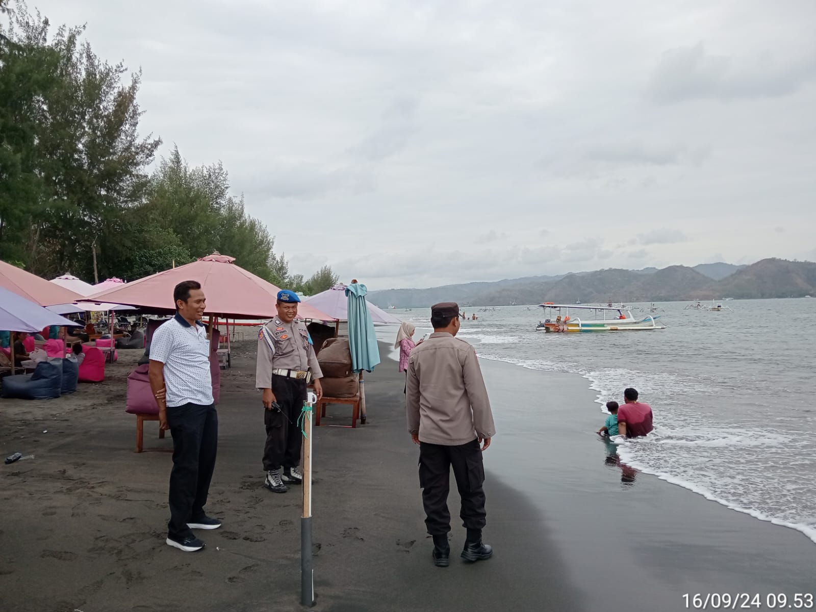
[[[463,526],[481,530],[486,524],[485,468],[481,463],[479,442],[473,440],[461,446],[419,444],[419,486],[422,487],[422,503],[425,508],[425,526],[428,534],[441,535],[450,531],[448,491],[450,490],[450,467],[454,468],[456,487],[462,498]]]

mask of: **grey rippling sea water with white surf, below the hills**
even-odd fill
[[[459,338],[484,359],[582,375],[601,405],[588,410],[636,388],[655,428],[619,446],[623,463],[816,542],[816,299],[722,304],[657,304],[666,330],[568,334],[536,332],[535,306],[464,308],[479,319]],[[429,331],[428,309],[393,313]]]

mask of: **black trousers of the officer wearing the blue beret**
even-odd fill
[[[273,374],[272,392],[281,410],[264,408],[264,470],[297,468],[303,441],[298,419],[306,401],[306,381]]]

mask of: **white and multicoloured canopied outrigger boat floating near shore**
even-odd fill
[[[643,318],[632,317],[632,310],[623,307],[592,306],[576,304],[539,304],[548,315],[535,326],[536,331],[650,331],[665,330],[658,325],[658,315]],[[572,315],[570,316],[570,311]]]

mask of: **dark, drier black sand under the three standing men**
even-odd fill
[[[247,348],[224,375],[207,507],[224,526],[202,532],[202,552],[164,543],[171,457],[132,451],[135,419],[122,412],[129,366],[113,366],[118,377],[74,397],[38,406],[2,401],[2,454],[23,449],[36,458],[0,468],[0,610],[299,609],[300,492],[261,486],[264,431],[253,360]],[[464,530],[454,490],[455,557],[449,568],[432,566],[418,449],[405,430],[396,370],[386,361],[368,377],[369,424],[317,430],[316,609],[583,610],[539,513],[495,477],[486,484],[494,558],[459,560]],[[75,408],[65,415],[69,402]],[[347,424],[349,414],[331,406],[335,416],[324,424]],[[169,437],[157,439],[157,424],[146,427],[146,447],[171,448]]]

